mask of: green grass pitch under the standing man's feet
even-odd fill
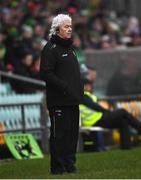
[[[0,164],[3,179],[141,179],[141,147],[100,153],[78,153],[75,174],[51,175],[49,156]]]

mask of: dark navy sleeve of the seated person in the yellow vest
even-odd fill
[[[103,113],[108,112],[107,109],[103,108],[98,103],[93,102],[92,99],[87,95],[84,95],[82,104],[86,105],[87,107],[89,107],[89,108],[91,108],[92,110],[95,110],[95,111],[100,111],[100,112],[103,112]]]

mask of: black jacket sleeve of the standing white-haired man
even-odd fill
[[[58,88],[64,93],[67,91],[67,84],[55,75],[56,59],[52,49],[46,46],[41,53],[40,77],[46,81],[47,85]]]

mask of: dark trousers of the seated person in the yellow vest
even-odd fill
[[[135,119],[124,109],[118,109],[113,112],[104,113],[102,119],[95,125],[104,128],[119,129],[121,148],[123,149],[128,149],[131,147],[131,135],[129,126],[132,126],[139,133],[141,133],[141,122]]]

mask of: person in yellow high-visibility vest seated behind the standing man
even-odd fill
[[[124,109],[110,111],[100,106],[97,103],[97,97],[92,94],[93,83],[88,79],[84,79],[84,91],[84,98],[80,104],[82,126],[116,128],[120,132],[120,147],[130,149],[132,144],[129,126],[141,134],[141,122]]]

